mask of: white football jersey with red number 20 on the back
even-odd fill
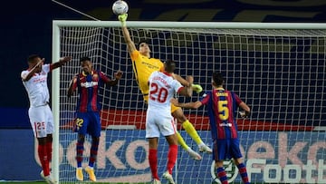
[[[168,73],[154,72],[149,76],[149,111],[171,112],[171,98],[183,86]]]

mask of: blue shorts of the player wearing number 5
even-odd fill
[[[213,160],[242,158],[239,139],[215,140],[213,142]]]

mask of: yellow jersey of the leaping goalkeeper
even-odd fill
[[[139,53],[138,50],[130,54],[132,68],[135,73],[136,81],[140,92],[144,95],[144,101],[149,99],[149,76],[155,71],[164,71],[164,63],[155,58],[149,58]]]

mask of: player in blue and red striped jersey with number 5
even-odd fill
[[[225,90],[223,88],[224,82],[221,73],[213,73],[213,90],[206,92],[201,101],[179,103],[176,99],[172,99],[171,102],[178,107],[187,109],[197,109],[202,105],[206,105],[211,126],[214,147],[213,159],[216,161],[217,177],[222,184],[228,183],[225,169],[223,168],[223,160],[233,158],[244,183],[249,184],[250,182],[240,151],[235,119],[238,107],[243,110],[240,113],[242,117],[249,115],[250,108],[235,92]]]

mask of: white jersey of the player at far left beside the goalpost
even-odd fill
[[[43,64],[41,73],[34,73],[30,80],[23,82],[31,107],[42,106],[49,102],[50,94],[47,86],[47,74],[49,72],[50,64]],[[29,71],[23,71],[21,73],[22,79],[28,73]]]

